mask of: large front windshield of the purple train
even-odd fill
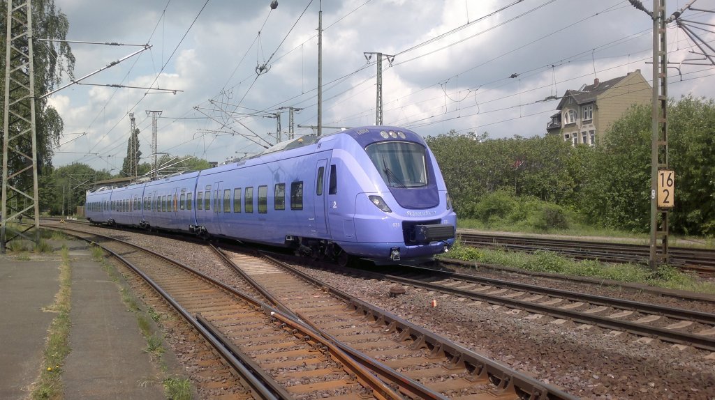
[[[410,142],[380,142],[365,148],[390,188],[427,185],[425,148]]]

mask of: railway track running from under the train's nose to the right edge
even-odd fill
[[[337,269],[335,266],[325,268]],[[613,336],[629,333],[640,337],[641,342],[659,339],[715,352],[715,314],[709,312],[413,266],[403,266],[389,274],[349,268],[338,270],[343,274],[388,280],[475,302],[498,304],[518,312],[526,311],[531,313],[529,319],[547,315],[553,317],[551,322],[556,324],[571,321],[583,324],[583,329],[593,326],[608,329]]]

